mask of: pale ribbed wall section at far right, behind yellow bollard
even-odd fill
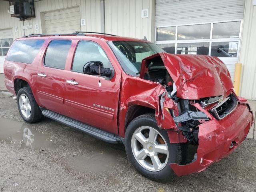
[[[256,100],[256,6],[252,0],[246,0],[241,51],[239,62],[242,63],[242,81],[240,95]]]

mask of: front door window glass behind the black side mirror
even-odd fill
[[[91,41],[80,41],[76,48],[72,70],[82,72],[84,65],[88,62],[100,61],[104,68],[113,69],[103,49]]]

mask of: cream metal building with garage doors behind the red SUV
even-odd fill
[[[14,1],[0,0],[0,73],[13,40],[31,33],[146,36],[169,53],[218,56],[232,78],[242,63],[240,96],[256,100],[256,0],[34,0],[24,21],[10,16]]]

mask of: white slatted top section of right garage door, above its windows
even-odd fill
[[[156,0],[156,26],[242,19],[245,0]]]

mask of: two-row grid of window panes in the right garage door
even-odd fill
[[[237,20],[159,27],[156,44],[171,54],[238,57],[241,26],[242,21]]]

